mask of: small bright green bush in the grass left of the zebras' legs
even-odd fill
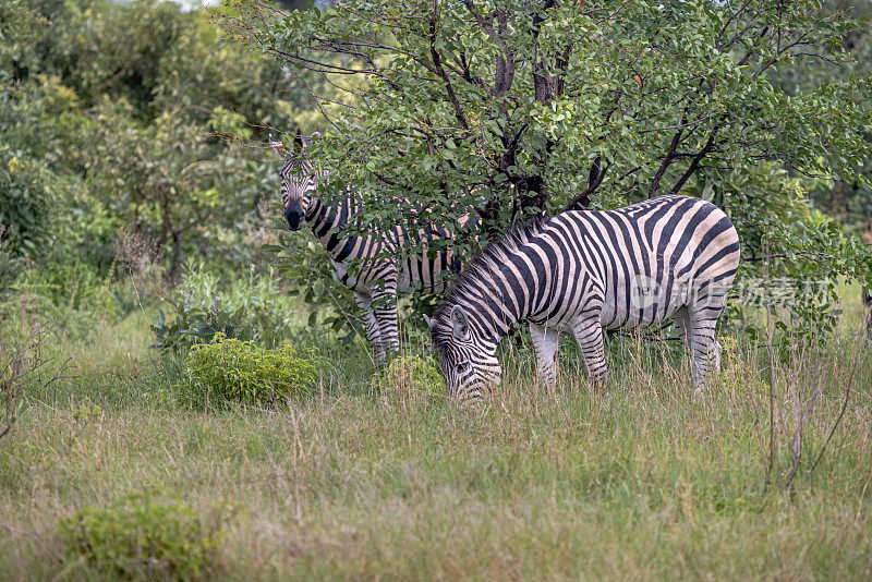
[[[318,377],[317,360],[291,345],[269,350],[223,334],[194,345],[185,364],[185,387],[195,402],[271,403],[283,395],[310,393]]]

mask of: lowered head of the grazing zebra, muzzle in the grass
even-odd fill
[[[433,347],[439,354],[439,367],[448,397],[460,405],[479,404],[485,393],[499,384],[502,368],[496,357],[496,344],[479,338],[460,305],[443,305],[429,323]]]

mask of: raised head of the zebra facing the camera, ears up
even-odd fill
[[[284,221],[291,230],[300,230],[306,220],[306,211],[312,202],[312,192],[318,187],[318,172],[305,156],[305,147],[320,134],[315,132],[311,137],[302,135],[299,131],[294,136],[296,151],[286,149],[281,142],[272,142],[272,148],[284,158],[284,163],[279,170],[281,175],[281,203],[284,205]]]

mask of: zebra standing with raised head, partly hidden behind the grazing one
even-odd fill
[[[317,135],[317,134],[313,134]],[[354,293],[354,301],[364,311],[366,339],[376,361],[383,361],[386,352],[400,349],[397,329],[397,292],[420,287],[426,292],[445,290],[447,272],[459,272],[460,262],[450,248],[428,250],[439,239],[451,239],[445,229],[431,226],[421,229],[416,237],[400,227],[395,227],[384,237],[342,235],[351,217],[360,211],[353,196],[335,202],[325,202],[315,196],[320,173],[305,157],[308,137],[296,134],[294,138],[299,155],[289,156],[281,167],[281,199],[284,204],[284,220],[290,230],[296,231],[307,223],[330,256],[330,263],[339,281]],[[271,142],[281,154],[280,142]],[[464,217],[461,228],[475,228],[477,219]],[[374,232],[375,233],[375,232]],[[422,251],[398,260],[398,250],[416,241]]]

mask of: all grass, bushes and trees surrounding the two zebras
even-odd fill
[[[717,10],[751,3],[507,2],[535,38],[477,2],[296,4],[0,3],[0,574],[868,578],[872,35],[838,13],[872,3],[756,2],[718,53]],[[803,53],[771,44],[803,27]],[[581,195],[722,204],[751,260],[717,387],[691,399],[668,330],[610,338],[600,392],[568,345],[554,397],[522,334],[476,413],[412,318],[376,368],[281,231],[267,136],[298,128],[334,191],[429,209],[370,221],[482,211],[468,251]]]

